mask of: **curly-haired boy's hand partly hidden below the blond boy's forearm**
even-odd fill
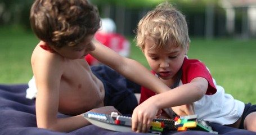
[[[174,111],[174,113],[176,113],[179,116],[187,116],[187,115],[195,114],[194,103],[175,106],[175,107],[172,107],[172,110]]]

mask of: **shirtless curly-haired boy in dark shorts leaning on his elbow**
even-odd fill
[[[107,91],[110,89],[107,88],[109,82],[104,82],[107,75],[101,78],[97,70],[89,67],[84,60],[88,54],[156,93],[169,90],[141,64],[118,55],[94,39],[100,28],[100,16],[97,8],[86,0],[36,0],[30,11],[30,23],[41,40],[31,58],[38,89],[38,128],[70,132],[89,124],[82,113],[110,114],[119,111],[116,109],[120,106],[132,110],[137,105],[131,92],[117,89],[116,93],[119,90],[125,93],[123,100],[127,101],[124,104],[119,101],[120,105],[113,106],[115,102],[111,102],[111,95],[115,94],[115,89]],[[119,88],[118,84],[116,87]],[[57,118],[58,112],[72,116]]]

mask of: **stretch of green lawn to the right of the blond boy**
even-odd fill
[[[192,40],[190,58],[208,66],[217,84],[238,100],[256,103],[256,40]]]

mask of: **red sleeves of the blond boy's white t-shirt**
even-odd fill
[[[154,71],[151,71],[151,72],[155,74]],[[187,57],[185,57],[182,65],[182,74],[181,74],[182,84],[190,83],[192,79],[197,77],[203,77],[206,80],[208,80],[208,89],[206,91],[206,95],[213,95],[214,93],[216,93],[217,89],[215,88],[215,85],[213,83],[212,75],[210,75],[210,72],[206,68],[206,66],[199,60],[187,59]],[[150,98],[151,96],[154,96],[154,95],[155,95],[155,92],[145,87],[141,87],[140,104],[143,101],[147,100],[147,98]]]

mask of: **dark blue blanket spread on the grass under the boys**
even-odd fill
[[[98,128],[95,125],[77,129],[70,133],[54,132],[47,129],[37,128],[35,118],[35,100],[25,98],[27,84],[4,85],[0,84],[0,135],[7,134],[47,134],[47,135],[85,135],[85,134],[139,134],[134,132],[121,133],[107,131],[106,129]],[[62,116],[62,114],[59,114]],[[212,127],[219,134],[256,134],[242,129],[225,127],[223,125],[212,124]],[[142,134],[142,133],[140,133]],[[166,132],[164,134],[212,134],[203,131],[186,131],[186,132]]]

